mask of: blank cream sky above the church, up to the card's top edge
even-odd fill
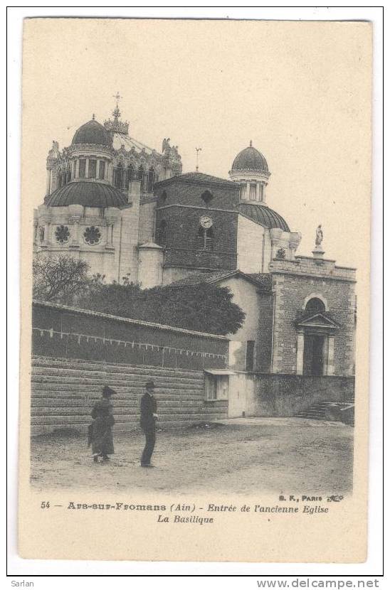
[[[371,26],[347,22],[30,19],[24,25],[23,195],[43,202],[46,156],[120,92],[130,135],[179,146],[183,171],[228,178],[253,141],[267,203],[310,255],[357,267],[369,248]],[[28,187],[28,188],[26,188]],[[27,195],[26,195],[27,193]]]

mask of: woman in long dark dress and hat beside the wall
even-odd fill
[[[93,424],[90,425],[90,442],[94,463],[97,463],[99,457],[102,457],[103,461],[110,461],[108,455],[114,452],[112,426],[115,424],[115,419],[112,416],[112,395],[116,395],[116,392],[105,385],[102,399],[95,403],[91,412]]]

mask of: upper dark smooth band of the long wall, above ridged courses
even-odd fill
[[[105,313],[33,303],[33,354],[167,368],[225,368],[228,339]]]

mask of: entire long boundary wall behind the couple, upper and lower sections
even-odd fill
[[[227,417],[207,402],[204,369],[228,363],[228,339],[68,306],[33,303],[31,431],[85,434],[102,387],[115,397],[115,431],[138,427],[144,385],[154,380],[159,426]]]

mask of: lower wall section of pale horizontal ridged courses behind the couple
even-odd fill
[[[227,417],[227,401],[204,401],[204,373],[199,370],[35,356],[31,367],[31,434],[85,434],[103,385],[110,385],[118,394],[114,401],[115,431],[137,429],[139,402],[148,380],[156,385],[162,429]]]

